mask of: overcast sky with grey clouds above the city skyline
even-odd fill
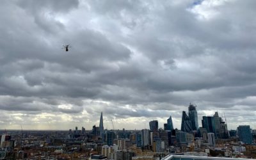
[[[256,124],[255,0],[3,0],[0,129]],[[68,52],[63,45],[72,46]],[[225,118],[224,118],[225,119]],[[113,120],[113,125],[111,124]]]

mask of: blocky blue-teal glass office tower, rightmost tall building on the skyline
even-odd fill
[[[239,125],[237,127],[237,134],[240,141],[243,141],[243,143],[246,144],[252,144],[252,132],[250,125]]]

